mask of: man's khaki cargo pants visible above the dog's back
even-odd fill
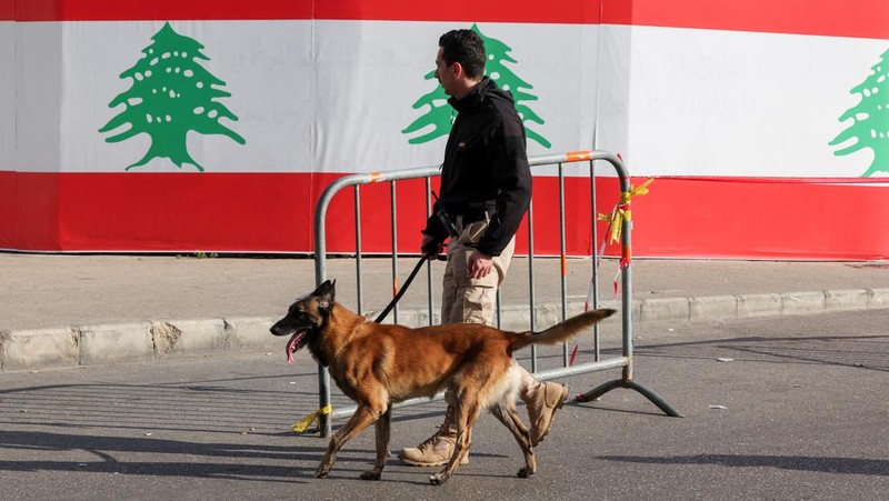
[[[470,279],[467,275],[469,255],[476,250],[488,221],[477,221],[463,228],[462,218],[457,218],[457,231],[460,236],[448,244],[448,263],[444,265],[444,279],[441,294],[441,323],[486,323],[492,324],[497,308],[497,288],[503,283],[516,250],[516,237],[509,241],[500,255],[493,258],[493,269],[487,277]]]

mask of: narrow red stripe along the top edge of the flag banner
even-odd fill
[[[0,20],[253,20],[633,24],[889,38],[886,0],[0,0]]]

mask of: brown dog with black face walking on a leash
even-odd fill
[[[429,480],[441,484],[453,474],[469,451],[472,424],[482,409],[489,409],[516,437],[525,454],[518,475],[530,477],[537,463],[530,434],[516,410],[519,375],[512,352],[533,343],[561,343],[615,313],[588,311],[542,332],[506,332],[477,323],[409,329],[352,313],[334,302],[333,294],[333,282],[328,280],[291,304],[271,328],[274,335],[291,337],[289,360],[308,344],[340,390],[358,403],[356,413],[330,439],[318,478],[330,473],[337,452],[349,439],[376,422],[377,460],[361,478],[379,480],[389,455],[392,403],[446,389],[456,400],[457,444],[444,469]]]

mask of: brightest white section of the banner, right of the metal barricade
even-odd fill
[[[849,93],[887,40],[639,27],[629,161],[642,176],[859,177],[836,157]]]

